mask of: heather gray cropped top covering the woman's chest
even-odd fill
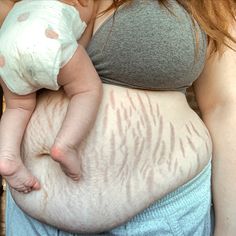
[[[203,70],[207,38],[176,1],[133,0],[97,30],[87,48],[104,83],[185,92]]]

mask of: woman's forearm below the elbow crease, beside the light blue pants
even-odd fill
[[[213,140],[215,235],[235,235],[236,107],[220,107],[203,118]]]

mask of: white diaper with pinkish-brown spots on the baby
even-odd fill
[[[16,94],[57,90],[57,76],[86,28],[79,12],[57,0],[16,3],[0,29],[0,77]]]

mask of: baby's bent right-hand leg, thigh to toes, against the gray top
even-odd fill
[[[81,174],[78,147],[94,124],[102,97],[100,78],[82,46],[61,69],[58,82],[64,86],[70,103],[51,156],[76,181]]]

